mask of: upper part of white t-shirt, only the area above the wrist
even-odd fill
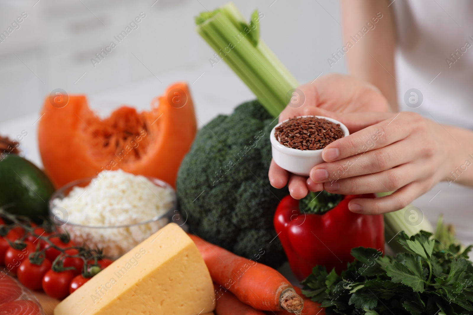
[[[473,1],[394,0],[392,6],[400,109],[473,129]],[[416,109],[404,102],[412,88],[423,94]]]

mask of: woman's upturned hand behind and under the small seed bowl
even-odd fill
[[[317,78],[310,84],[301,85],[293,95],[298,97],[299,102],[289,103],[281,112],[279,121],[312,115],[314,107],[343,113],[388,112],[390,109],[388,102],[375,86],[341,74]],[[314,183],[308,183],[306,187],[306,178],[290,174],[274,161],[271,162],[269,179],[271,185],[276,188],[282,188],[289,182],[289,192],[296,199],[307,195],[307,187],[312,191],[320,187]]]

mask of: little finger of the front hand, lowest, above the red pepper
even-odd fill
[[[423,182],[413,182],[402,187],[392,195],[380,198],[357,198],[348,203],[351,212],[361,214],[381,214],[396,211],[410,204],[415,198],[428,190]]]

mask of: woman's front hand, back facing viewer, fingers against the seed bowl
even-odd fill
[[[458,182],[473,182],[473,172],[466,169],[472,164],[469,130],[443,126],[412,112],[326,115],[354,133],[327,145],[322,152],[325,163],[316,165],[305,183],[293,184],[294,192],[308,188],[359,195],[395,190],[381,198],[352,199],[348,205],[352,212],[378,214],[403,208],[441,180],[455,180],[451,175],[455,167],[465,169]],[[366,128],[359,130],[362,125]]]

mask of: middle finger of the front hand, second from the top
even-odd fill
[[[377,143],[373,142],[373,144],[374,149],[377,149]],[[409,150],[406,150],[406,147],[409,147]],[[310,172],[310,179],[315,183],[324,183],[378,173],[413,161],[422,154],[421,151],[420,145],[409,146],[405,141],[399,141],[384,148],[356,154],[340,161],[316,165]]]

